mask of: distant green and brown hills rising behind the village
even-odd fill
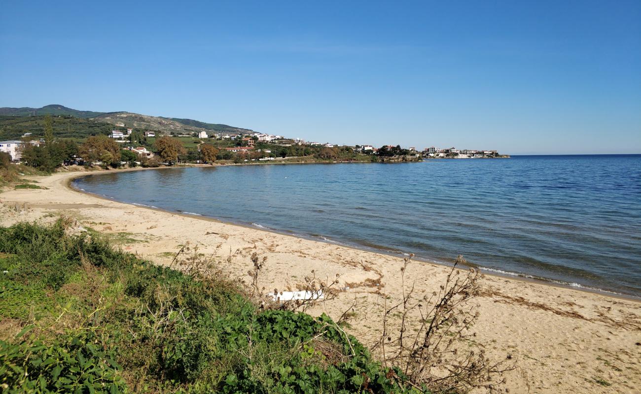
[[[181,118],[167,118],[167,117],[154,117],[150,115],[142,115],[133,112],[96,112],[96,111],[79,111],[72,108],[67,108],[59,104],[51,104],[42,108],[0,108],[0,138],[17,138],[23,133],[38,134],[42,132],[42,117],[44,115],[54,115],[57,117],[74,117],[76,119],[87,119],[92,124],[101,125],[117,125],[124,124],[126,127],[133,127],[141,130],[153,130],[163,134],[187,134],[199,133],[206,131],[208,134],[224,133],[229,135],[238,135],[242,133],[249,133],[251,129],[244,129],[241,127],[229,126],[227,124],[206,123],[193,119]],[[34,118],[38,118],[33,120]],[[12,119],[21,119],[15,120]],[[32,120],[29,120],[32,119]],[[57,119],[57,118],[56,118]],[[73,122],[66,122],[73,123]],[[77,122],[78,123],[78,122]],[[81,122],[80,122],[81,123]],[[87,129],[91,128],[87,124],[83,124],[79,133],[81,135],[88,135]],[[39,126],[37,126],[39,125]],[[71,125],[73,126],[73,125]],[[99,126],[99,127],[103,127]],[[109,126],[106,126],[108,129]],[[56,131],[56,130],[54,130]],[[71,130],[70,130],[71,132]],[[103,132],[101,132],[102,134]],[[108,133],[108,130],[107,130]],[[78,134],[78,133],[76,133]]]

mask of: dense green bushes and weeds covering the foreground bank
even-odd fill
[[[328,316],[263,310],[197,258],[183,274],[71,227],[0,227],[3,393],[427,392]]]

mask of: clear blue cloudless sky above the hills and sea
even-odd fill
[[[641,153],[641,1],[0,0],[0,106]]]

